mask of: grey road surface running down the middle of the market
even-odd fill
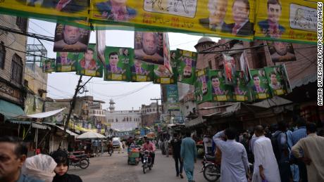
[[[155,165],[147,174],[143,174],[141,163],[136,165],[127,164],[127,152],[118,154],[114,151],[111,157],[105,153],[101,157],[90,158],[87,169],[70,167],[68,173],[76,174],[87,182],[118,181],[118,182],[175,182],[187,181],[185,171],[182,172],[184,178],[175,176],[175,162],[172,155],[166,157],[161,155],[161,150],[156,151]],[[197,182],[206,181],[201,169],[201,160],[197,160],[194,168],[194,180]]]

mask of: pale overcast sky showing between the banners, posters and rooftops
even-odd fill
[[[29,32],[54,37],[56,24],[54,22],[45,22],[42,20],[30,19]],[[196,51],[194,45],[197,44],[201,36],[189,34],[168,33],[170,49],[181,48],[187,51]],[[211,37],[213,41],[219,38]],[[54,42],[42,41],[47,49],[47,57],[55,58],[56,53],[53,51]],[[89,43],[96,42],[95,32],[91,32]],[[28,44],[39,44],[34,38],[28,38]],[[134,32],[122,30],[106,30],[106,46],[131,47],[134,48]],[[47,80],[47,97],[72,98],[75,87],[79,79],[75,72],[52,72],[48,74]],[[82,82],[85,83],[90,77],[83,76]],[[151,98],[161,98],[160,84],[153,82],[107,82],[104,78],[93,77],[86,84],[87,92],[78,96],[94,96],[95,100],[104,100],[106,104],[103,109],[108,110],[109,100],[112,98],[116,103],[116,110],[138,110],[142,104],[149,105],[155,100]]]

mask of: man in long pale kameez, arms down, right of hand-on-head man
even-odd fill
[[[254,131],[258,139],[254,142],[254,172],[252,182],[280,182],[280,173],[273,146],[269,138],[264,136],[263,127],[256,126]]]

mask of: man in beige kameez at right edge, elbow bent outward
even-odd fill
[[[306,163],[308,181],[324,181],[324,137],[317,136],[314,123],[307,123],[306,131],[308,136],[292,147],[292,154]]]

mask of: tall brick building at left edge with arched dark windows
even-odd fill
[[[26,18],[0,15],[0,25],[27,31]],[[6,119],[24,115],[24,67],[27,37],[0,30],[0,133],[18,136],[17,129],[4,124]]]

